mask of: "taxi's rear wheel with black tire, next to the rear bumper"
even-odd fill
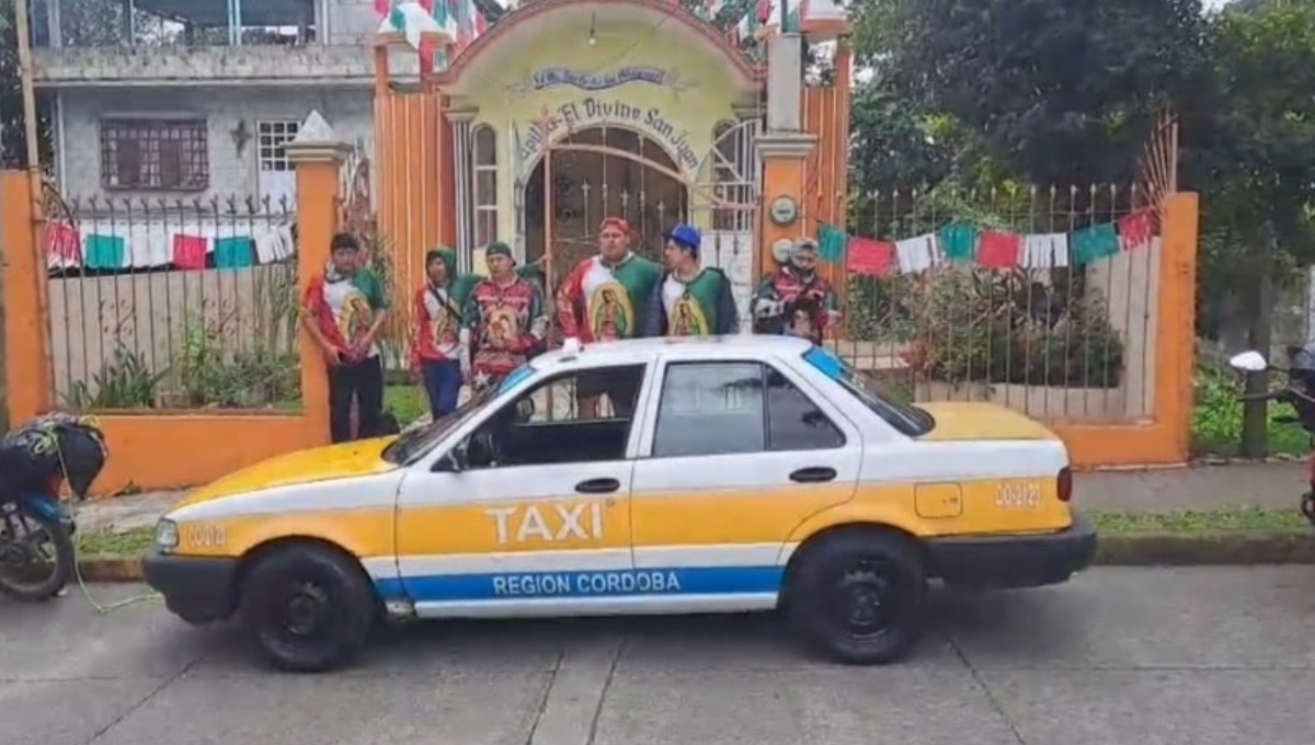
[[[846,665],[894,662],[914,646],[927,607],[917,543],[889,531],[852,530],[801,551],[786,608],[806,643]]]

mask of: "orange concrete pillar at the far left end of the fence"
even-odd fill
[[[9,423],[50,410],[53,385],[46,311],[46,261],[38,237],[41,214],[33,176],[0,172],[0,258],[4,260],[5,380]]]

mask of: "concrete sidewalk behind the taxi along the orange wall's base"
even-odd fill
[[[1153,470],[1109,470],[1073,477],[1073,505],[1082,510],[1166,512],[1223,507],[1297,508],[1306,484],[1303,463],[1230,464]],[[83,530],[149,528],[185,491],[153,491],[95,499],[78,511]]]

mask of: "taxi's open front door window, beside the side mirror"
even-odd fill
[[[644,365],[552,376],[475,432],[476,468],[625,460]]]

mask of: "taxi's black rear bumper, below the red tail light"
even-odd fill
[[[1091,565],[1095,543],[1095,526],[1074,512],[1057,533],[931,539],[927,552],[947,583],[1005,590],[1066,582]]]

